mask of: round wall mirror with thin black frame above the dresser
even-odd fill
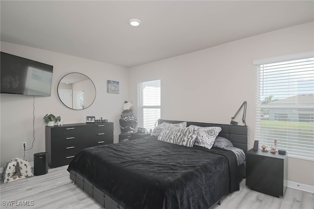
[[[58,84],[61,102],[71,109],[85,109],[93,104],[96,88],[93,81],[81,73],[69,73]]]

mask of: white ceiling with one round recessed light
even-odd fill
[[[313,0],[0,1],[0,38],[131,67],[314,21]],[[138,27],[131,18],[140,19]]]

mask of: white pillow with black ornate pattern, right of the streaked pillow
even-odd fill
[[[221,127],[200,127],[194,144],[210,149],[220,131]]]

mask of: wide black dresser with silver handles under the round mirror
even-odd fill
[[[113,123],[46,126],[46,152],[51,168],[67,165],[81,150],[113,143]]]

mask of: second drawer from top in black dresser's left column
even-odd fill
[[[52,137],[51,146],[52,148],[66,147],[76,144],[85,145],[86,135],[84,134],[72,134],[68,136]]]

